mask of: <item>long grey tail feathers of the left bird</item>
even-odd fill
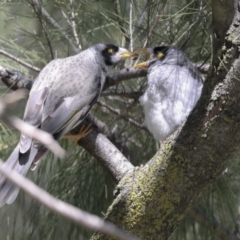
[[[8,160],[4,163],[9,169],[14,169],[21,175],[25,176],[29,170],[35,155],[37,154],[37,149],[32,147],[29,159],[25,165],[19,164],[19,144],[16,146]],[[4,204],[11,204],[16,199],[19,192],[19,188],[13,183],[8,181],[4,176],[0,175],[0,207]]]

